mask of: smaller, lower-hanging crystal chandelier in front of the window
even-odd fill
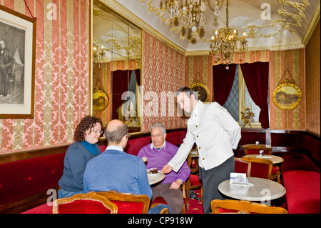
[[[233,63],[235,51],[246,51],[248,49],[248,41],[243,37],[238,37],[238,30],[228,27],[228,1],[226,1],[226,27],[215,31],[215,35],[210,40],[210,52],[215,57],[215,62],[220,58],[226,64]],[[237,47],[237,41],[240,42],[240,49]],[[228,67],[228,66],[227,66]]]

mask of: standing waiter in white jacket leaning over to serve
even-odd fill
[[[178,172],[196,143],[199,175],[203,182],[203,209],[205,214],[209,214],[210,202],[224,199],[218,192],[218,185],[230,178],[230,172],[234,172],[233,149],[240,141],[240,126],[220,104],[199,101],[195,98],[198,97],[195,91],[189,87],[180,88],[176,96],[180,108],[191,112],[191,116],[183,144],[162,171],[168,173],[173,169]]]

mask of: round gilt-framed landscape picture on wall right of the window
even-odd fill
[[[302,101],[302,92],[293,81],[285,79],[273,91],[272,101],[279,109],[294,109]]]

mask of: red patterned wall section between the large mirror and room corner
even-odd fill
[[[184,85],[184,67],[183,54],[143,31],[143,132],[149,132],[156,122],[164,124],[166,129],[184,127],[175,102],[168,105],[168,97],[161,96],[162,92],[173,94]]]

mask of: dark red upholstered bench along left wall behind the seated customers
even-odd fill
[[[179,146],[185,134],[185,129],[168,130],[166,140]],[[128,140],[125,151],[137,155],[149,143],[149,133],[135,134]],[[0,154],[0,213],[52,213],[51,206],[46,204],[52,193],[48,194],[47,191],[58,190],[67,149],[68,145],[63,145],[31,152]],[[101,142],[101,150],[105,149],[106,145]]]

